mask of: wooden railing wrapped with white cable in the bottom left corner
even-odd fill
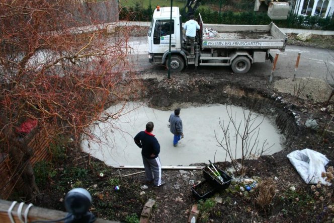
[[[34,220],[57,220],[66,217],[66,212],[59,210],[51,210],[24,203],[15,203],[15,206],[11,209],[14,204],[12,201],[0,200],[0,222],[11,223],[11,217],[14,222],[32,222]],[[28,209],[27,209],[28,208]],[[26,215],[26,216],[25,216]],[[56,221],[56,222],[64,222]],[[120,223],[119,221],[110,221],[97,218],[95,223]]]

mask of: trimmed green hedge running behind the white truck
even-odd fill
[[[120,10],[120,20],[131,21],[150,21],[153,13],[152,8],[142,8],[139,4],[135,7],[122,8]],[[186,14],[184,9],[180,9],[183,14],[183,22],[186,22]],[[201,14],[205,23],[211,24],[230,24],[230,25],[268,25],[274,22],[278,27],[297,28],[297,29],[319,29],[334,30],[334,19],[321,18],[317,16],[297,16],[289,15],[286,20],[271,20],[267,13],[241,12],[233,13],[231,11],[219,12],[208,8],[201,8],[196,11],[195,16]],[[207,22],[210,21],[210,22]]]

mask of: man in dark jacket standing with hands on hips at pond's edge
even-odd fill
[[[134,137],[134,142],[141,148],[147,183],[154,181],[154,187],[160,187],[164,185],[161,181],[161,163],[158,157],[160,144],[152,134],[153,127],[153,122],[147,122],[146,130],[139,132]]]

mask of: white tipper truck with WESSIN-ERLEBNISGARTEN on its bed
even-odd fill
[[[171,26],[172,21],[172,26]],[[171,70],[185,66],[231,66],[235,73],[246,73],[256,62],[273,61],[271,49],[284,51],[287,35],[274,23],[269,25],[210,25],[199,15],[200,30],[195,38],[195,55],[184,38],[178,7],[157,7],[147,32],[151,63],[168,67],[171,37]],[[171,30],[172,27],[172,30]]]

